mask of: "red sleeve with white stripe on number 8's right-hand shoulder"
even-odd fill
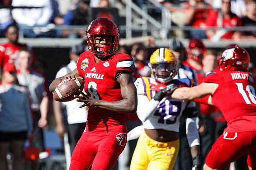
[[[116,62],[116,68],[113,73],[113,77],[116,77],[116,73],[133,73],[135,71],[134,60],[128,54],[118,54],[121,55]],[[117,57],[117,56],[116,56]]]

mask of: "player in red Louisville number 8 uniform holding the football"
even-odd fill
[[[132,79],[134,60],[115,54],[119,31],[105,17],[96,18],[87,29],[90,51],[79,57],[77,68],[53,80],[54,91],[63,79],[83,77],[86,94],[75,96],[80,107],[88,106],[87,125],[71,157],[70,170],[111,170],[127,141],[128,113],[137,110],[137,92]]]

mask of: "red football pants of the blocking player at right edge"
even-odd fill
[[[248,166],[256,169],[256,131],[224,132],[212,145],[205,163],[212,169],[224,169],[248,153]]]

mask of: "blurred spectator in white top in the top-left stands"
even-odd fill
[[[25,37],[49,37],[51,27],[48,25],[54,17],[52,0],[12,0],[12,6],[29,6],[38,8],[16,8],[12,10],[14,20],[20,26],[44,26],[48,28],[23,29]]]

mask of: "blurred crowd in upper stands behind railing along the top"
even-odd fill
[[[151,0],[133,0],[140,8],[152,4]],[[172,26],[192,26],[189,31],[170,30],[170,36],[179,38],[255,39],[255,29],[229,30],[240,26],[256,26],[255,0],[155,0],[171,13]],[[108,10],[95,13],[96,8],[125,9],[126,0],[2,0],[0,9],[1,36],[10,24],[23,28],[24,37],[83,37],[85,29],[55,29],[55,26],[87,26],[96,17],[113,16]],[[31,7],[31,8],[22,8]],[[34,8],[33,8],[34,7]],[[119,8],[119,7],[118,7]],[[119,9],[120,10],[120,9]],[[94,12],[94,13],[93,13]],[[155,18],[161,16],[159,8],[148,11]],[[93,16],[91,16],[93,15]],[[117,21],[116,21],[117,22]],[[142,20],[143,22],[143,20]],[[125,25],[125,24],[124,24]],[[33,28],[29,28],[33,26]],[[121,34],[122,35],[122,34]]]

